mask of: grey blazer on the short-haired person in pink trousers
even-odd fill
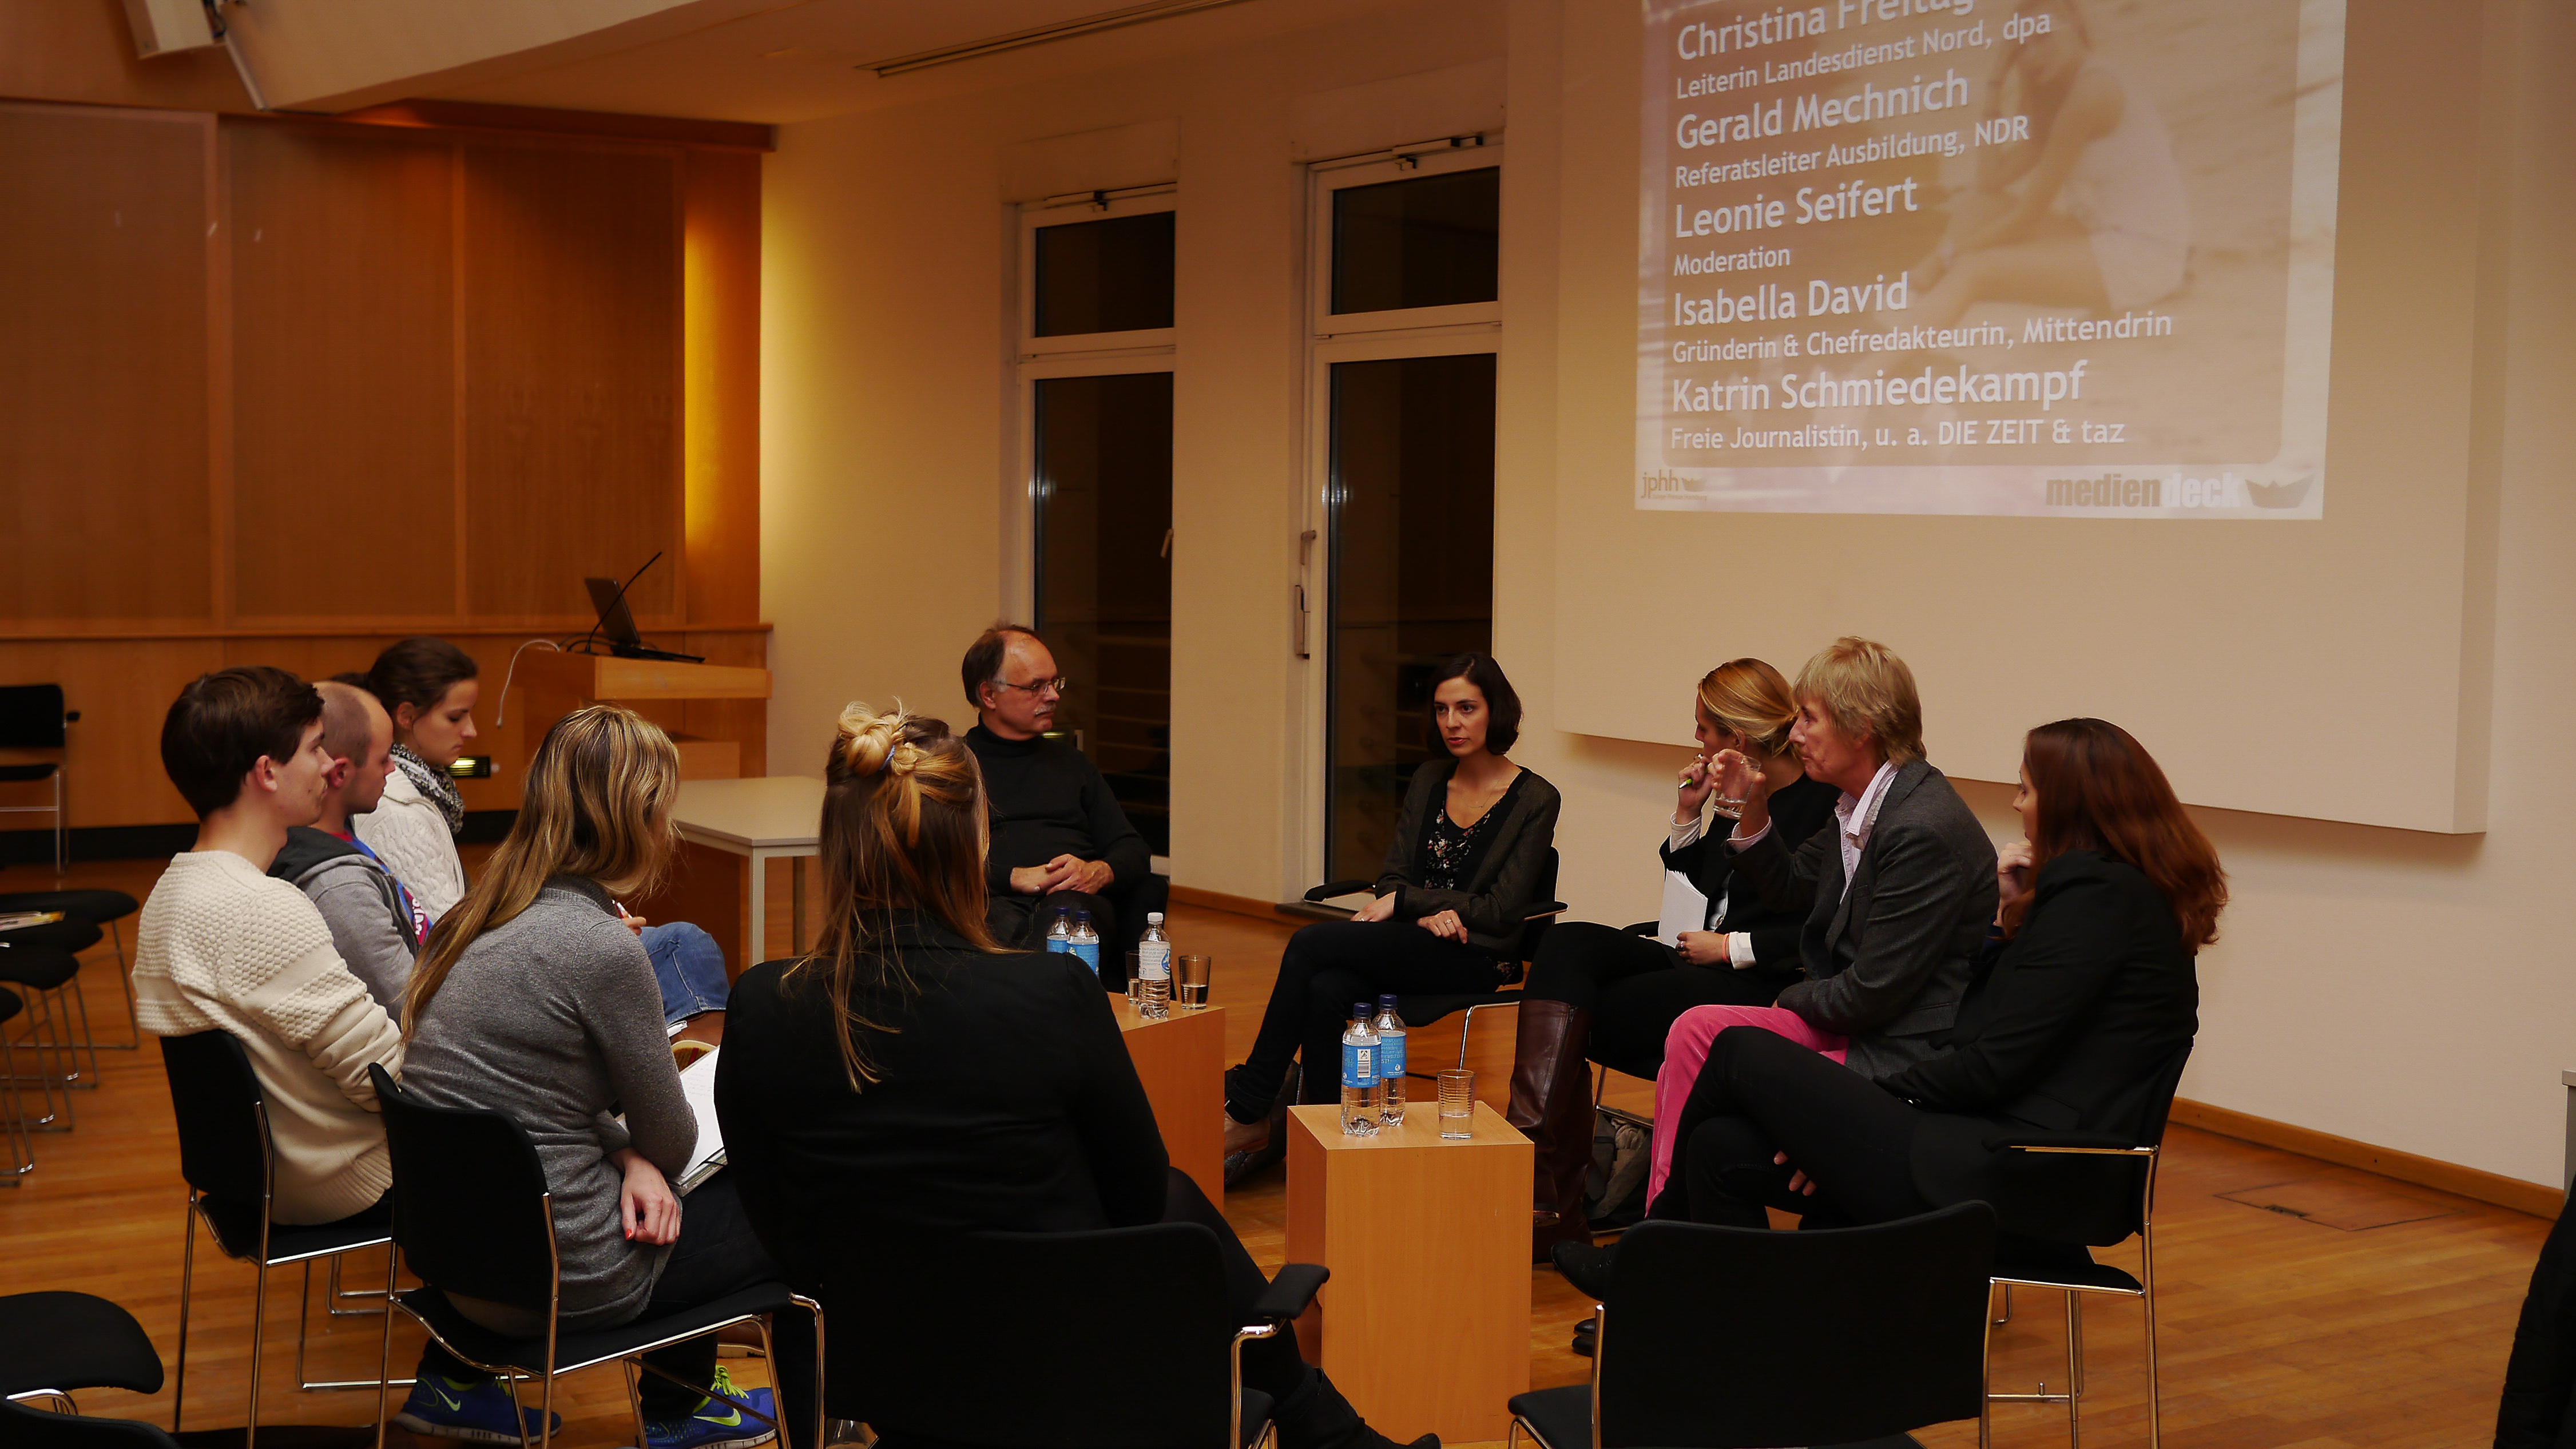
[[[1780,991],[1780,1006],[1850,1037],[1852,1071],[1875,1081],[1937,1050],[1996,903],[1994,842],[1940,770],[1924,759],[1896,770],[1850,891],[1837,821],[1795,854],[1765,834],[1736,854],[1736,872],[1772,909],[1806,909],[1806,981]]]

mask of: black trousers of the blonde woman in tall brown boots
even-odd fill
[[[1610,1071],[1654,1076],[1664,1066],[1664,1037],[1682,1011],[1770,1006],[1795,978],[1790,970],[1690,965],[1654,937],[1564,921],[1540,937],[1522,993],[1592,1011],[1584,1055]]]

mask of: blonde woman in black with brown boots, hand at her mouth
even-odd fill
[[[1680,870],[1708,898],[1698,929],[1664,945],[1651,927],[1615,929],[1564,921],[1548,932],[1522,988],[1520,1042],[1512,1053],[1510,1122],[1538,1143],[1530,1246],[1546,1261],[1556,1243],[1589,1243],[1584,1179],[1592,1171],[1592,1091],[1584,1060],[1628,1076],[1664,1066],[1664,1035],[1692,1006],[1770,1006],[1798,981],[1803,911],[1767,906],[1754,891],[1731,888],[1734,857],[1723,847],[1731,811],[1718,813],[1718,839],[1700,816],[1713,795],[1710,762],[1721,749],[1762,762],[1772,785],[1772,829],[1798,849],[1834,816],[1834,788],[1808,780],[1788,749],[1798,700],[1788,679],[1759,659],[1731,659],[1700,679],[1692,700],[1700,754],[1682,770],[1672,826],[1656,847],[1664,870]]]

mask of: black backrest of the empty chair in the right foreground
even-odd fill
[[[1994,1210],[1767,1233],[1641,1223],[1602,1300],[1602,1449],[1850,1444],[1976,1418]]]

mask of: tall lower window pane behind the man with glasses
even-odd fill
[[[1172,373],[1038,383],[1038,633],[1072,731],[1172,854]]]

